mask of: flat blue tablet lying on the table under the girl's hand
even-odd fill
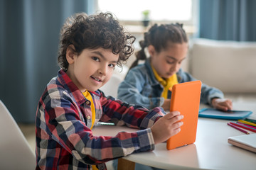
[[[198,117],[201,118],[218,118],[228,120],[238,120],[247,118],[252,111],[220,111],[215,108],[202,108],[199,110]]]

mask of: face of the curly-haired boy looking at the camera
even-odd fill
[[[80,55],[75,55],[74,47],[71,47],[66,55],[69,63],[67,74],[80,91],[96,91],[110,80],[119,54],[114,55],[112,50],[100,47],[85,49]]]

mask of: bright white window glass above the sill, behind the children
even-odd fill
[[[142,21],[142,11],[149,10],[151,21],[193,25],[193,0],[98,0],[98,10],[110,11],[125,23]]]

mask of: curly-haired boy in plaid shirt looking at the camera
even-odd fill
[[[65,29],[58,55],[61,69],[38,103],[36,169],[106,169],[104,162],[152,150],[180,131],[183,115],[178,111],[148,111],[98,90],[114,67],[132,55],[133,42],[111,13],[80,15]],[[141,130],[95,137],[91,129],[99,120]]]

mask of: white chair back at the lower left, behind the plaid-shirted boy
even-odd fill
[[[36,169],[36,154],[1,100],[0,169]]]

